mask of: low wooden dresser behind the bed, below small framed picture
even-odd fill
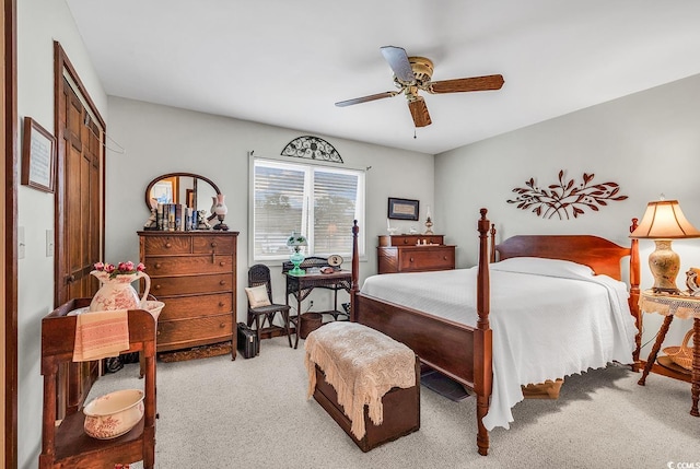
[[[380,273],[455,268],[455,246],[445,245],[444,235],[383,235],[376,255]]]

